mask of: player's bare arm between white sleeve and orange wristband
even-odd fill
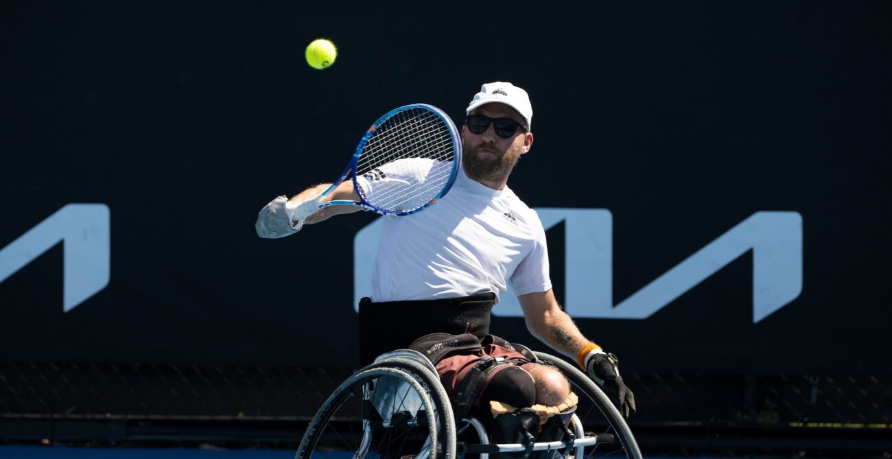
[[[536,338],[576,361],[579,352],[591,341],[582,336],[573,319],[561,310],[554,291],[518,295],[524,309],[526,328]]]

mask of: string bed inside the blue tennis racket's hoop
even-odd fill
[[[441,163],[455,159],[453,142],[449,127],[428,111],[415,109],[386,120],[363,148],[357,174],[387,165],[391,174],[417,180],[386,186],[382,193],[373,193],[367,199],[374,198],[376,207],[393,211],[424,206],[449,182],[452,165]]]

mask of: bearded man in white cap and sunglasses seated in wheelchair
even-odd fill
[[[544,228],[536,212],[508,188],[511,170],[533,145],[532,119],[533,108],[523,89],[505,82],[481,87],[467,106],[461,128],[462,168],[450,192],[424,212],[384,218],[372,295],[359,304],[363,365],[393,349],[414,349],[434,365],[455,417],[482,416],[500,440],[516,439],[508,427],[541,437],[547,429],[534,428],[533,423],[560,418],[566,414],[561,409],[571,412],[574,406],[567,372],[552,366],[562,365],[560,359],[545,365],[529,349],[490,334],[491,308],[508,283],[533,336],[572,358],[623,416],[635,411],[617,359],[584,337],[558,305],[549,278]],[[358,177],[357,185],[367,189],[374,185],[370,180],[400,179],[388,172]],[[327,187],[317,185],[290,200],[279,197],[270,202],[260,211],[258,234],[281,237],[305,224],[359,209],[331,206],[298,221],[287,217],[287,209]],[[356,198],[348,180],[325,200]],[[578,389],[585,382],[575,384]],[[370,390],[365,387],[361,397],[368,398]],[[556,406],[563,408],[555,411]],[[504,422],[517,425],[496,425],[500,414],[511,414]],[[558,430],[568,431],[566,424]]]

